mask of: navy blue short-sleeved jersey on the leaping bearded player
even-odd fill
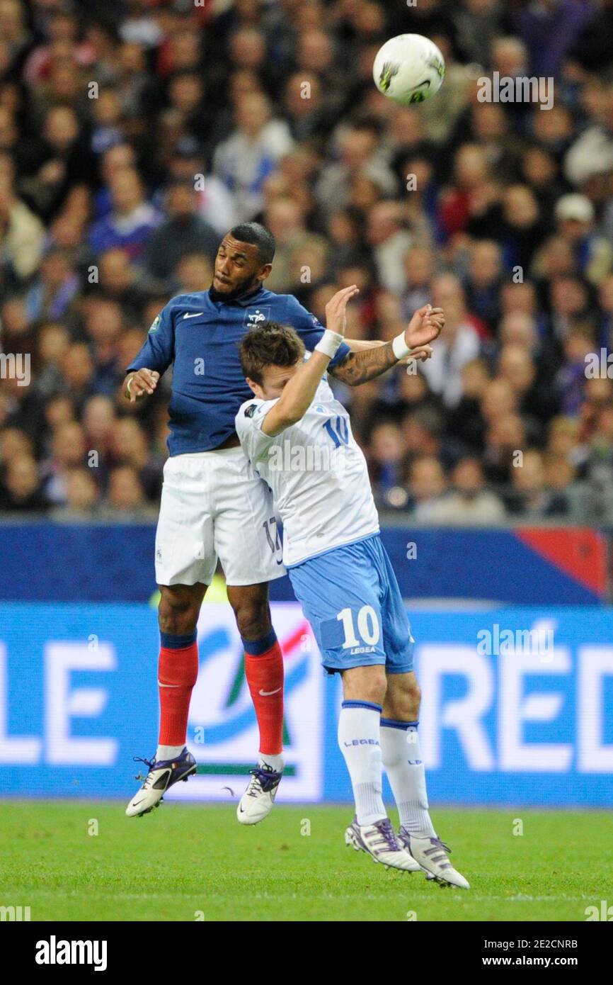
[[[147,368],[161,375],[173,364],[168,405],[171,455],[210,451],[233,433],[240,405],[253,396],[238,344],[245,332],[265,321],[291,325],[311,352],[324,332],[294,296],[265,288],[231,301],[213,300],[208,291],[179,295],[159,312],[147,342],[126,371]],[[343,342],[331,365],[349,351]]]

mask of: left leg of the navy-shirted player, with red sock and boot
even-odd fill
[[[196,625],[206,590],[200,583],[160,585],[159,739],[153,759],[143,759],[149,771],[126,809],[129,818],[149,814],[169,787],[196,772],[196,760],[186,746],[187,720],[198,680]]]

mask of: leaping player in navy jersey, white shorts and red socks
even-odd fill
[[[267,291],[275,239],[257,223],[230,230],[215,257],[208,291],[173,297],[128,366],[125,395],[153,394],[172,365],[168,407],[170,457],[155,536],[160,588],[159,740],[149,772],[127,808],[147,814],[164,792],[196,770],[186,747],[191,692],[198,676],[196,624],[207,587],[221,562],[230,605],[245,649],[245,676],[260,730],[260,755],[238,806],[242,823],[273,807],[283,769],[283,659],[271,623],[268,582],[284,574],[276,514],[265,483],[245,458],[234,418],[249,395],[238,345],[254,325],[289,324],[313,350],[324,326],[295,297]],[[396,363],[391,344],[344,342],[329,371],[349,385]]]

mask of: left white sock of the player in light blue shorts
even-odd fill
[[[338,746],[351,777],[358,824],[387,818],[381,795],[380,719],[381,707],[371,701],[343,701],[338,716]]]

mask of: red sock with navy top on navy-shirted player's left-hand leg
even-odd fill
[[[194,633],[194,637],[195,637]],[[162,640],[168,640],[164,633]],[[171,638],[171,637],[170,637]],[[185,637],[186,639],[188,637]],[[173,642],[181,637],[174,637]],[[198,680],[198,643],[161,646],[157,665],[159,685],[159,745],[184,746],[192,689]]]

